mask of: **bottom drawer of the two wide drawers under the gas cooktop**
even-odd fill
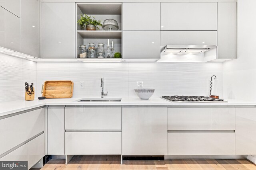
[[[168,133],[168,155],[234,155],[235,133]]]

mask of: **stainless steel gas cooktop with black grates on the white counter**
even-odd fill
[[[170,102],[227,102],[223,99],[210,98],[206,96],[162,96],[162,98]]]

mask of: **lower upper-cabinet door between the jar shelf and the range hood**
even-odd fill
[[[123,31],[123,59],[160,59],[160,31]]]

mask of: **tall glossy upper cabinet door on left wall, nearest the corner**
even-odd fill
[[[38,57],[39,20],[38,0],[21,0],[20,52]]]

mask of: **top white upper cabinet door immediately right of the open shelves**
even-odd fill
[[[123,3],[123,31],[160,30],[160,3]]]

